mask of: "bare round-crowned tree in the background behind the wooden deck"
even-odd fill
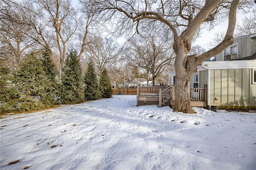
[[[128,60],[134,67],[146,69],[147,75],[152,75],[153,85],[155,79],[164,71],[167,65],[174,60],[172,41],[167,36],[156,34],[156,30],[150,30],[150,34],[138,34],[130,40]],[[148,79],[147,79],[148,80]]]

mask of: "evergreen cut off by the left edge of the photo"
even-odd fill
[[[12,86],[13,81],[10,69],[0,61],[0,113],[12,112],[16,108],[20,94]]]

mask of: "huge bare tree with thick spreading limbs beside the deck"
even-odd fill
[[[116,28],[122,32],[133,27],[138,32],[139,26],[148,26],[149,22],[160,23],[173,34],[175,59],[175,101],[174,111],[194,113],[190,104],[190,81],[202,61],[220,53],[234,41],[236,10],[239,0],[94,0],[94,10],[108,20],[115,18]],[[243,1],[239,4],[253,5]],[[213,28],[219,21],[228,18],[228,29],[224,40],[216,47],[199,56],[188,55],[191,43],[200,33],[200,28]],[[120,27],[118,27],[120,26]]]

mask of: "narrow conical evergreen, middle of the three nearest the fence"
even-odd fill
[[[84,74],[84,99],[96,100],[100,97],[100,89],[92,59],[89,60],[87,70]]]

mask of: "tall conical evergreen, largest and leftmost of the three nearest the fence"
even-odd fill
[[[77,52],[69,51],[62,73],[62,93],[60,102],[63,104],[81,103],[84,101],[82,68]]]

